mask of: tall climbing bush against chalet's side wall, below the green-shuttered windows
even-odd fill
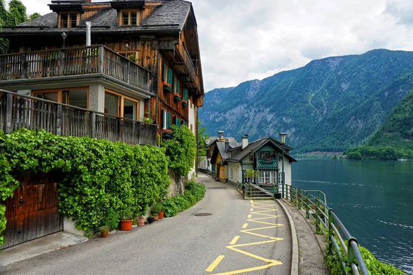
[[[188,175],[196,156],[195,136],[188,126],[172,125],[171,140],[164,140],[161,144],[165,154],[169,157],[169,168],[178,175]]]

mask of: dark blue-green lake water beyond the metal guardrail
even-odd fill
[[[350,234],[413,274],[413,162],[299,159],[293,186],[321,190]]]

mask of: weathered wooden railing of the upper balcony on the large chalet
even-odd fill
[[[103,45],[0,55],[0,81],[105,74],[149,91],[149,71]]]

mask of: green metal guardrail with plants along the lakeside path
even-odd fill
[[[306,218],[315,221],[316,231],[326,237],[330,252],[337,254],[346,274],[349,273],[346,267],[350,267],[350,274],[370,274],[361,256],[357,239],[348,232],[334,210],[327,206],[326,195],[323,192],[288,186],[286,199],[299,210],[304,208]]]

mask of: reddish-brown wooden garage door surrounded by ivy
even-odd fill
[[[51,175],[28,173],[17,180],[20,186],[4,201],[6,206],[5,243],[2,248],[24,243],[63,230],[58,210],[57,184]]]

